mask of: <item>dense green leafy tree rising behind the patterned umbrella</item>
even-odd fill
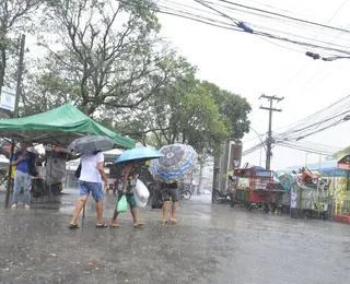
[[[116,129],[156,147],[177,142],[188,143],[199,154],[210,156],[220,151],[223,141],[241,139],[247,132],[244,126],[249,125],[247,114],[250,110],[244,98],[217,86],[215,94],[212,92],[214,86],[196,80],[194,70],[189,70],[186,76],[160,90],[150,100],[147,111],[131,109],[116,115]],[[220,99],[217,95],[220,95]],[[226,116],[221,108],[235,110],[222,102],[241,103],[245,108],[242,111],[240,109],[238,115],[228,110],[230,116]],[[242,126],[241,130],[235,130],[234,126]]]

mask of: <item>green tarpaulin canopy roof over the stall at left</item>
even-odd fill
[[[84,134],[108,137],[115,144],[126,149],[136,145],[135,140],[113,132],[71,104],[38,115],[0,120],[0,137],[20,141],[67,146],[73,139]]]

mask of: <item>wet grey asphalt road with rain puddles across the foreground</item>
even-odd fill
[[[142,209],[120,228],[95,228],[94,203],[69,230],[78,191],[25,211],[5,208],[0,191],[0,283],[240,283],[348,284],[350,226],[291,220],[229,205],[210,197],[180,203],[177,225]],[[115,197],[105,199],[108,222]],[[92,262],[93,265],[88,264]]]

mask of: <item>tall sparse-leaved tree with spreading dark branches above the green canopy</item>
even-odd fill
[[[38,38],[48,51],[45,72],[70,91],[79,86],[70,99],[85,114],[138,107],[172,79],[172,51],[151,1],[48,3]]]

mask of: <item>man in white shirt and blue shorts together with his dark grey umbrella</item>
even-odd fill
[[[108,225],[103,222],[103,189],[108,191],[108,179],[104,170],[104,155],[102,150],[109,150],[114,145],[112,139],[105,137],[83,137],[74,140],[67,149],[68,153],[82,153],[81,171],[79,175],[80,198],[75,205],[73,217],[69,224],[70,229],[78,228],[78,217],[85,205],[91,193],[96,201],[97,223],[96,227],[106,228]]]

